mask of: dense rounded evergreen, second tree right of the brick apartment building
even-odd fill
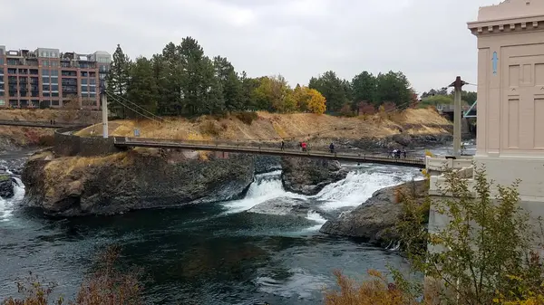
[[[136,62],[131,66],[131,82],[128,87],[128,97],[131,102],[151,113],[157,111],[157,80],[153,76],[151,61],[145,57],[137,58]],[[141,112],[141,110],[138,111]]]

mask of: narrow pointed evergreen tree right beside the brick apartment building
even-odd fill
[[[117,99],[127,98],[127,92],[130,81],[131,60],[129,56],[122,52],[121,45],[117,44],[117,49],[113,52],[112,65],[106,77],[106,90],[114,95]],[[111,109],[117,112],[118,115],[124,116],[124,107],[116,100],[110,100]],[[121,110],[121,113],[120,113]]]

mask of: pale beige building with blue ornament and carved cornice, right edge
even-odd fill
[[[474,160],[503,185],[544,202],[544,2],[482,7],[478,37],[478,129]]]

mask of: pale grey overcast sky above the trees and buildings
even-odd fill
[[[134,58],[193,36],[249,76],[403,71],[418,92],[476,81],[466,23],[499,0],[0,0],[0,44]],[[8,30],[9,29],[9,30]]]

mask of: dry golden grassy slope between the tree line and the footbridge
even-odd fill
[[[440,134],[448,132],[451,123],[434,110],[405,110],[391,115],[374,115],[358,118],[339,118],[310,113],[272,114],[258,112],[251,125],[235,117],[214,119],[201,117],[195,120],[169,118],[166,123],[151,120],[117,120],[110,123],[110,134],[119,137],[133,136],[141,130],[141,138],[173,139],[239,139],[277,140],[292,138],[366,138],[387,137],[400,132],[408,134]],[[92,136],[102,132],[102,125],[81,130],[78,135]],[[318,136],[317,136],[318,135]]]

